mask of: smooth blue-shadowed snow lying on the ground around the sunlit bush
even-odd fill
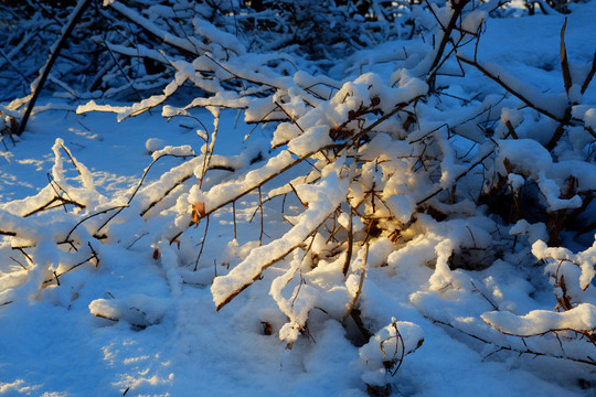
[[[232,131],[232,116],[222,131],[226,128]],[[209,112],[204,117],[210,117]],[[237,141],[244,135],[242,129],[235,136],[231,133],[228,140],[219,142],[222,150],[230,150],[231,143],[240,148]],[[17,147],[10,148],[8,161],[2,164],[3,201],[31,194],[46,183],[45,173],[53,163],[51,147],[56,137],[64,140],[77,160],[92,171],[97,185],[106,191],[128,187],[140,179],[150,162],[148,139],[168,143],[198,140],[192,131],[155,115],[141,115],[118,125],[110,115],[82,118],[64,111],[42,112]],[[14,184],[8,183],[10,176],[14,178]],[[254,210],[254,200],[248,198],[246,206]],[[259,227],[257,221],[246,222],[253,211],[245,212],[237,228],[248,239],[251,233],[258,234]],[[232,233],[228,222],[221,222],[217,229],[210,232],[203,254],[217,262]],[[267,234],[279,232],[275,223],[266,226]],[[345,337],[341,324],[324,319],[324,313],[316,314],[321,318],[318,319],[321,324],[320,330],[311,330],[315,341],[301,339],[291,350],[286,350],[275,334],[264,335],[259,319],[268,319],[270,313],[279,315],[275,314],[275,302],[267,299],[265,282],[255,283],[217,313],[209,286],[183,285],[179,291],[172,291],[166,270],[152,258],[149,247],[141,244],[138,249],[129,250],[111,247],[106,254],[97,270],[88,268],[64,275],[61,288],[1,309],[2,393],[113,396],[130,388],[127,395],[132,396],[365,395],[356,364],[358,347]],[[15,264],[8,259],[7,265]],[[274,278],[283,271],[272,268],[265,277]],[[408,303],[408,296],[424,289],[423,280],[429,275],[432,269],[387,278],[377,268],[369,272],[364,288],[364,302],[370,296],[374,302],[371,304],[375,305],[366,311],[386,318],[387,323],[393,315],[424,330],[423,346],[404,360],[394,377],[400,393],[406,396],[582,394],[574,385],[555,385],[519,368],[518,357],[509,357],[511,353],[483,360],[490,352],[475,345],[473,340],[426,320]],[[507,275],[508,268],[503,266],[493,277],[507,278]],[[114,298],[126,299],[130,307],[149,304],[151,310],[163,311],[163,318],[158,324],[140,330],[126,321],[114,323],[91,314],[93,301]],[[466,315],[466,308],[461,311]]]

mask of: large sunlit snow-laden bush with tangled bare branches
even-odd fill
[[[161,115],[190,120],[203,144],[148,142],[153,161],[143,178],[109,195],[57,140],[50,184],[0,206],[4,245],[26,261],[2,276],[0,304],[58,289],[63,275],[100,267],[105,246],[129,249],[140,240],[174,298],[185,285],[209,286],[216,310],[227,310],[266,283],[259,299],[273,299],[284,321],[272,313],[259,321],[288,347],[316,336],[315,312],[356,330],[355,365],[370,387],[387,384],[384,371],[423,341],[419,326],[380,309],[375,277],[406,280],[409,290],[398,297],[485,343],[487,357],[543,356],[572,363],[571,376],[594,374],[596,61],[567,57],[565,25],[549,55],[560,61],[563,84],[544,92],[508,64],[485,61],[482,32],[497,2],[361,1],[368,9],[352,11],[350,1],[105,3],[102,13],[139,32],[124,40],[115,29],[106,47],[130,67],[159,64],[174,74],[161,93],[132,105],[89,100],[76,112],[108,111],[123,121],[163,105]],[[387,39],[383,52],[362,50]],[[345,60],[329,62],[330,54]],[[146,83],[128,87],[159,86],[168,74],[158,75],[147,68]],[[181,105],[190,88],[196,94]],[[211,111],[211,128],[196,108]],[[230,109],[263,126],[269,146],[247,136],[247,150],[219,154],[220,120]],[[146,180],[168,157],[180,164]],[[76,180],[66,176],[68,162]],[[225,175],[207,178],[213,170]],[[258,202],[258,238],[241,240],[234,226],[225,267],[213,272],[214,258],[202,255],[210,221],[227,214],[235,225],[248,195]],[[286,198],[288,225],[267,236],[264,208]],[[532,297],[545,280],[552,302]],[[146,298],[97,300],[89,309],[148,326],[166,310]]]

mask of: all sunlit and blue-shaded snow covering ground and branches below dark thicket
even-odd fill
[[[161,94],[42,97],[2,141],[0,395],[594,393],[596,92],[572,106],[536,66],[560,67],[562,15],[478,9],[454,33],[486,29],[481,64],[541,112],[468,66],[429,84],[423,37],[443,33],[422,8],[413,40],[326,71],[201,14],[187,40],[160,23],[173,9],[104,7],[195,58],[145,49],[174,69]],[[570,8],[570,58],[589,66],[596,3]],[[499,183],[520,216],[479,200]]]

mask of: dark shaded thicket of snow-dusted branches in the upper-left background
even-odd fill
[[[251,52],[298,53],[318,60],[318,67],[330,67],[331,57],[414,32],[414,26],[406,25],[411,21],[407,4],[377,0],[105,1],[104,6],[110,7],[102,7],[103,3],[86,1],[76,29],[68,33],[67,45],[61,50],[49,76],[49,90],[55,96],[73,100],[138,100],[143,93],[163,86],[175,68],[159,55],[147,56],[142,49],[157,50],[170,31],[182,41],[188,40],[169,42],[162,50],[170,55],[196,55],[196,51],[204,50],[204,40],[209,42],[212,33],[219,31],[219,36],[223,32],[235,35]],[[29,94],[76,4],[0,3],[0,41],[7,43],[0,56],[0,100]],[[120,7],[124,4],[128,11]],[[146,23],[130,23],[135,14],[146,18]],[[203,43],[194,41],[198,33],[206,35]],[[134,53],[131,44],[138,44]],[[22,105],[17,101],[11,108]]]

